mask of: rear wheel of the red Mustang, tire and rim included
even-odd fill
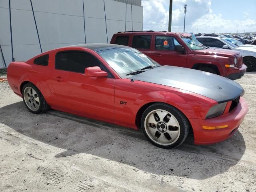
[[[34,114],[43,113],[50,108],[40,90],[32,83],[23,86],[22,98],[28,110]]]

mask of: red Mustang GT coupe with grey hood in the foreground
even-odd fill
[[[134,48],[83,44],[12,62],[8,82],[32,113],[49,108],[142,128],[161,148],[174,148],[190,127],[196,144],[232,136],[248,107],[242,87],[208,72],[160,66]]]

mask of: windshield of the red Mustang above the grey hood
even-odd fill
[[[142,68],[160,66],[157,62],[133,48],[115,48],[97,51],[97,53],[118,73],[121,78],[130,77],[130,73]],[[126,75],[129,76],[126,76]]]

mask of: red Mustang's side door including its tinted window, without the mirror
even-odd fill
[[[84,69],[99,66],[108,72],[104,65],[92,54],[82,51],[62,51],[55,56],[55,69],[52,73],[54,97],[58,108],[85,114],[101,120],[114,120],[115,79],[107,77],[87,77]]]

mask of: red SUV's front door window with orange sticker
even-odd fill
[[[174,45],[180,45],[178,41],[171,36],[156,36],[155,49],[173,51]]]

